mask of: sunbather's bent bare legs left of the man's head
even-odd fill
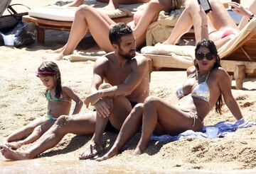
[[[102,50],[112,52],[113,48],[108,37],[110,25],[112,24],[114,24],[114,21],[95,8],[85,5],[80,6],[75,13],[68,42],[63,48],[57,50],[57,52],[60,52],[57,58],[62,59],[63,56],[72,54],[88,30],[90,30],[92,37]]]

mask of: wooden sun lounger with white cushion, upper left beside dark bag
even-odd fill
[[[86,1],[87,5],[94,6],[95,8],[102,8],[107,5],[98,1]],[[133,19],[134,11],[142,8],[144,4],[129,4],[119,5],[119,8],[114,11],[99,9],[106,13],[116,23],[128,23]],[[23,16],[23,22],[35,23],[38,33],[38,42],[44,42],[45,29],[55,30],[70,30],[75,10],[77,8],[63,8],[59,6],[46,6],[41,8],[33,8],[28,12],[28,16]]]

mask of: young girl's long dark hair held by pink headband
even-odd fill
[[[60,98],[62,94],[62,86],[61,86],[61,76],[60,69],[58,65],[54,62],[43,62],[36,73],[36,76],[56,76],[56,87],[55,87],[55,97]],[[46,89],[46,93],[48,89]]]

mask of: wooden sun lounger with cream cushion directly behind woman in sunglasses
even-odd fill
[[[246,74],[256,74],[256,18],[247,23],[240,33],[220,47],[221,65],[234,75],[236,88],[242,88]],[[156,45],[142,48],[142,53],[152,60],[151,71],[159,69],[187,69],[193,65],[195,47]]]

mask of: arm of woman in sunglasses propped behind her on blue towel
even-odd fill
[[[230,112],[232,112],[236,120],[240,120],[242,118],[242,113],[238,103],[235,101],[235,98],[231,93],[230,76],[222,68],[220,68],[218,71],[218,86],[220,87],[220,92],[223,95],[225,104],[228,106],[228,109]]]

